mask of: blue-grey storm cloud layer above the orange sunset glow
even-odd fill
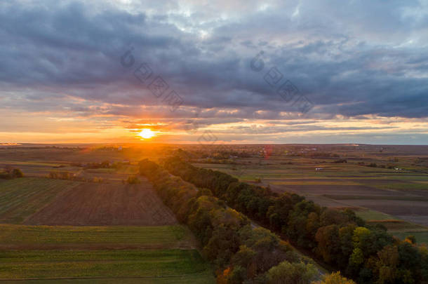
[[[159,104],[132,74],[147,62],[183,107],[210,109],[206,119],[284,119],[281,111],[296,111],[263,79],[272,67],[314,102],[314,116],[428,116],[423,2],[236,4],[244,12],[226,10],[222,18],[197,4],[187,15],[174,1],[162,4],[166,10],[141,4],[135,11],[45,3],[0,4],[4,107],[91,115],[101,111],[91,103],[121,104],[102,112],[139,116],[136,106]],[[135,65],[124,69],[119,60],[130,46]],[[257,73],[250,60],[260,50],[265,69]],[[192,118],[189,111],[163,115]]]

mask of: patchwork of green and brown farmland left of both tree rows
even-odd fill
[[[25,154],[25,153],[24,153]],[[7,162],[30,177],[0,180],[0,282],[214,283],[189,229],[135,165],[83,170]],[[102,182],[46,178],[53,170]],[[27,175],[28,176],[28,175]],[[49,226],[51,225],[51,226]]]

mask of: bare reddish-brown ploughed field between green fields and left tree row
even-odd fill
[[[25,224],[138,225],[177,224],[152,185],[84,183],[58,195]]]

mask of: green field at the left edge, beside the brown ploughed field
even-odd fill
[[[0,222],[20,224],[61,191],[78,185],[70,180],[22,177],[0,183]]]

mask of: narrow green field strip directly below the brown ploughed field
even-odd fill
[[[0,224],[0,248],[194,248],[185,226]]]

